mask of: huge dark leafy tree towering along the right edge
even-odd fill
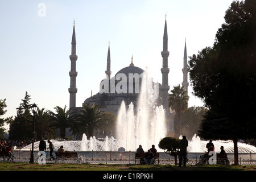
[[[216,139],[232,139],[235,164],[238,138],[256,136],[255,10],[256,1],[232,2],[213,47],[189,57],[193,93],[210,110],[199,133],[206,138],[209,133],[203,130],[216,130]]]

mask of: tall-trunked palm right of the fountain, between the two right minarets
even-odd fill
[[[178,123],[178,135],[181,134],[181,121],[180,121],[180,113],[185,111],[188,108],[188,94],[187,91],[183,88],[183,86],[180,87],[174,86],[174,89],[171,90],[171,94],[168,96],[169,101],[169,107],[171,107],[172,110],[175,110],[175,113],[177,114],[177,123]]]

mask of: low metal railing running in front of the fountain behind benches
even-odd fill
[[[45,159],[46,163],[79,163],[79,164],[135,164],[135,160],[137,164],[139,164],[139,159],[135,159],[135,155],[133,152],[127,152],[126,156],[114,156],[112,152],[110,151],[109,155],[96,155],[96,152],[92,151],[91,155],[79,155],[77,158],[69,159],[69,160],[55,160],[49,158],[49,156]],[[164,153],[164,152],[163,152]],[[170,156],[168,154],[163,154],[162,157],[160,155],[159,158],[159,164],[175,164],[175,159],[173,156]],[[202,153],[195,154],[195,153],[189,153],[187,155],[188,165],[195,165],[200,164],[200,156]],[[164,157],[163,157],[164,155]],[[239,155],[244,155],[242,158],[239,158],[239,164],[240,165],[256,165],[256,153],[243,153]],[[232,154],[228,154],[229,164],[234,164],[234,158],[231,157]],[[249,156],[249,157],[247,157]],[[42,158],[41,158],[42,159]],[[38,162],[40,160],[40,156],[34,155],[34,162]],[[30,162],[30,155],[19,155],[19,156],[13,156],[9,158],[9,156],[1,156],[0,162],[21,162],[21,163],[28,163]],[[158,163],[158,159],[156,159],[156,164]],[[179,163],[179,158],[177,158],[177,163]]]

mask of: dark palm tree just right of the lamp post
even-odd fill
[[[46,135],[53,137],[54,133],[50,126],[49,122],[49,113],[48,110],[42,108],[41,110],[37,109],[35,114],[35,128],[36,128],[36,139],[44,138]]]

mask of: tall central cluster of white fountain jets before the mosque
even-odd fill
[[[152,144],[158,146],[159,141],[166,137],[166,119],[163,106],[156,105],[158,87],[154,87],[148,71],[144,71],[142,85],[135,110],[131,102],[126,109],[122,102],[117,116],[117,138],[121,145],[128,150],[136,151],[139,144],[144,150],[151,148]]]

